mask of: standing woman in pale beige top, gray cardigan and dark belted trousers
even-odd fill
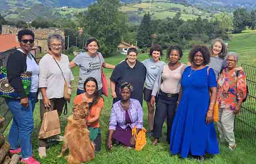
[[[156,145],[159,138],[161,138],[163,122],[166,117],[166,141],[168,144],[170,143],[171,127],[180,92],[180,80],[185,68],[185,64],[179,62],[182,55],[182,48],[179,45],[171,45],[167,51],[169,63],[160,68],[158,77],[154,83],[150,103],[154,106],[156,96],[157,103],[153,127],[154,140],[152,141],[152,145]]]

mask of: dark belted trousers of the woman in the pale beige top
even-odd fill
[[[167,117],[167,136],[166,141],[170,142],[171,128],[174,119],[174,115],[177,107],[178,95],[173,97],[165,97],[163,94],[158,94],[158,100],[156,103],[156,112],[154,117],[154,138],[161,138],[163,122]]]

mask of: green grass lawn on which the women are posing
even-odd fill
[[[256,44],[255,44],[256,32],[245,31],[245,33],[233,35],[232,40],[229,42],[230,50],[236,51],[240,54],[241,58],[239,64],[246,63],[256,66]],[[165,51],[166,52],[166,51]],[[164,52],[164,54],[165,54]],[[189,50],[184,51],[184,56],[181,62],[187,63]],[[71,57],[70,57],[71,58]],[[147,59],[147,54],[140,54],[139,61]],[[165,56],[162,58],[165,60]],[[107,63],[117,64],[121,60],[125,59],[125,55],[115,55],[112,57],[105,58]],[[72,69],[75,76],[75,81],[73,82],[73,94],[72,98],[76,96],[76,83],[78,81],[79,69],[78,67]],[[106,76],[111,76],[112,70],[104,69]],[[198,162],[191,159],[182,159],[178,155],[171,155],[169,151],[169,145],[165,142],[166,124],[163,127],[163,137],[160,140],[160,144],[157,146],[150,145],[152,138],[147,138],[147,145],[143,151],[126,150],[123,147],[114,147],[113,151],[107,151],[106,149],[106,138],[108,134],[108,122],[112,105],[112,98],[104,97],[104,109],[100,116],[100,125],[102,129],[102,151],[96,155],[96,158],[88,162],[89,164],[255,164],[256,161],[256,145],[250,144],[245,139],[236,136],[237,138],[237,149],[235,151],[230,151],[227,146],[220,145],[220,154],[215,155],[214,158],[208,158],[203,162]],[[69,107],[69,113],[71,114],[71,108]],[[144,126],[148,128],[147,124],[147,106],[144,102]],[[68,116],[67,115],[67,116]],[[34,111],[34,122],[35,129],[32,134],[32,144],[33,153],[35,158],[37,158],[41,164],[66,164],[64,157],[57,158],[61,151],[62,142],[59,144],[50,146],[47,149],[47,158],[39,159],[37,152],[37,137],[39,131],[40,122],[39,105],[36,104]],[[67,116],[61,116],[61,134],[64,133],[64,127],[67,125]],[[254,125],[256,126],[256,125]],[[7,128],[5,135],[9,131]],[[198,138],[200,140],[200,138]],[[67,154],[66,154],[67,155]]]

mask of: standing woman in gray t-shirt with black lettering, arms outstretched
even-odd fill
[[[85,44],[85,53],[80,53],[72,61],[70,61],[70,68],[79,66],[79,81],[76,94],[84,93],[83,83],[88,77],[94,77],[98,82],[99,94],[102,94],[102,81],[101,81],[101,69],[104,68],[114,69],[115,66],[108,64],[104,61],[102,54],[97,50],[100,48],[100,44],[96,38],[89,38]]]

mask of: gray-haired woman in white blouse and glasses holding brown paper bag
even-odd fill
[[[61,116],[66,101],[64,95],[64,83],[67,81],[71,85],[74,80],[69,68],[69,57],[61,53],[63,48],[63,37],[58,33],[48,36],[48,53],[39,63],[39,88],[38,99],[40,100],[40,117],[43,120],[46,109],[48,111],[57,110]],[[56,135],[50,138],[54,141],[62,141],[63,136]],[[47,138],[38,141],[39,157],[46,157]]]

